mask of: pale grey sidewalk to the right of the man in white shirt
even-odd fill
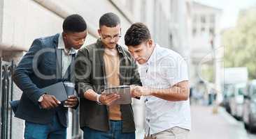
[[[242,122],[218,107],[213,114],[211,106],[191,106],[192,131],[189,139],[248,139]]]

